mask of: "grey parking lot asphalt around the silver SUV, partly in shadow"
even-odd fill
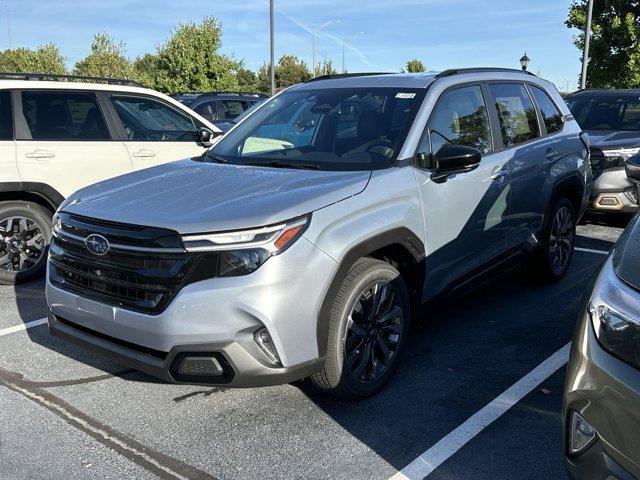
[[[44,325],[3,334],[46,305],[42,282],[0,287],[0,478],[390,478],[570,342],[594,252],[622,226],[581,225],[558,284],[516,271],[421,312],[391,384],[359,403],[305,382],[169,385]],[[429,478],[566,478],[563,381],[560,368]]]

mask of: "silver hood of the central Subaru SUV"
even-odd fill
[[[86,187],[62,210],[202,233],[269,225],[362,192],[369,171],[335,172],[183,160]]]

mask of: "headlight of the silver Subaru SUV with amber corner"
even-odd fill
[[[248,230],[184,235],[182,242],[188,252],[220,252],[216,276],[248,275],[289,248],[302,236],[309,220],[306,216]]]

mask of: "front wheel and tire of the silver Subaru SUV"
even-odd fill
[[[351,400],[382,389],[404,350],[410,310],[409,292],[398,270],[380,260],[358,260],[333,300],[327,357],[324,368],[311,377],[313,384]]]

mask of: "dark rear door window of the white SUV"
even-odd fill
[[[93,93],[23,91],[22,110],[33,140],[109,140]]]

